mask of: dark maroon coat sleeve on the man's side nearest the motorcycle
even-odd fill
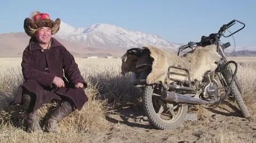
[[[76,83],[83,83],[84,87],[87,87],[87,83],[84,81],[84,78],[81,75],[81,72],[78,69],[78,65],[75,62],[75,58],[71,55],[65,47],[62,47],[62,62],[63,62],[63,70],[65,73],[65,77],[71,82],[73,85]]]

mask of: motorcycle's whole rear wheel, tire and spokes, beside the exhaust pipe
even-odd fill
[[[165,101],[154,95],[154,88],[151,85],[145,87],[142,102],[149,122],[162,130],[180,127],[188,111],[188,105]]]

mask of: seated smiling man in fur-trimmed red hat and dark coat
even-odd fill
[[[59,28],[59,18],[53,21],[49,14],[38,11],[24,21],[25,32],[31,38],[22,55],[22,94],[13,105],[26,108],[28,131],[42,131],[36,113],[43,104],[59,101],[44,124],[46,131],[59,132],[57,123],[75,109],[81,110],[88,100],[84,92],[87,83],[73,55],[52,37]]]

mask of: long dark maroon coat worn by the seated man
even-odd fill
[[[36,97],[33,110],[52,99],[71,99],[75,108],[81,110],[88,98],[83,88],[76,89],[75,83],[84,81],[73,55],[56,39],[51,38],[51,47],[42,49],[35,38],[31,38],[22,56],[22,73],[25,82],[21,85],[23,91],[29,91]],[[64,71],[63,71],[64,70]],[[65,77],[68,82],[65,81]],[[57,88],[53,85],[54,77],[65,81],[65,87]],[[22,95],[17,95],[12,104],[20,104]]]

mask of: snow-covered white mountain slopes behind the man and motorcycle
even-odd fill
[[[157,46],[161,48],[177,49],[179,45],[150,33],[131,31],[110,24],[95,23],[85,28],[74,28],[61,22],[57,38],[85,47],[96,48],[134,48],[141,46]]]

